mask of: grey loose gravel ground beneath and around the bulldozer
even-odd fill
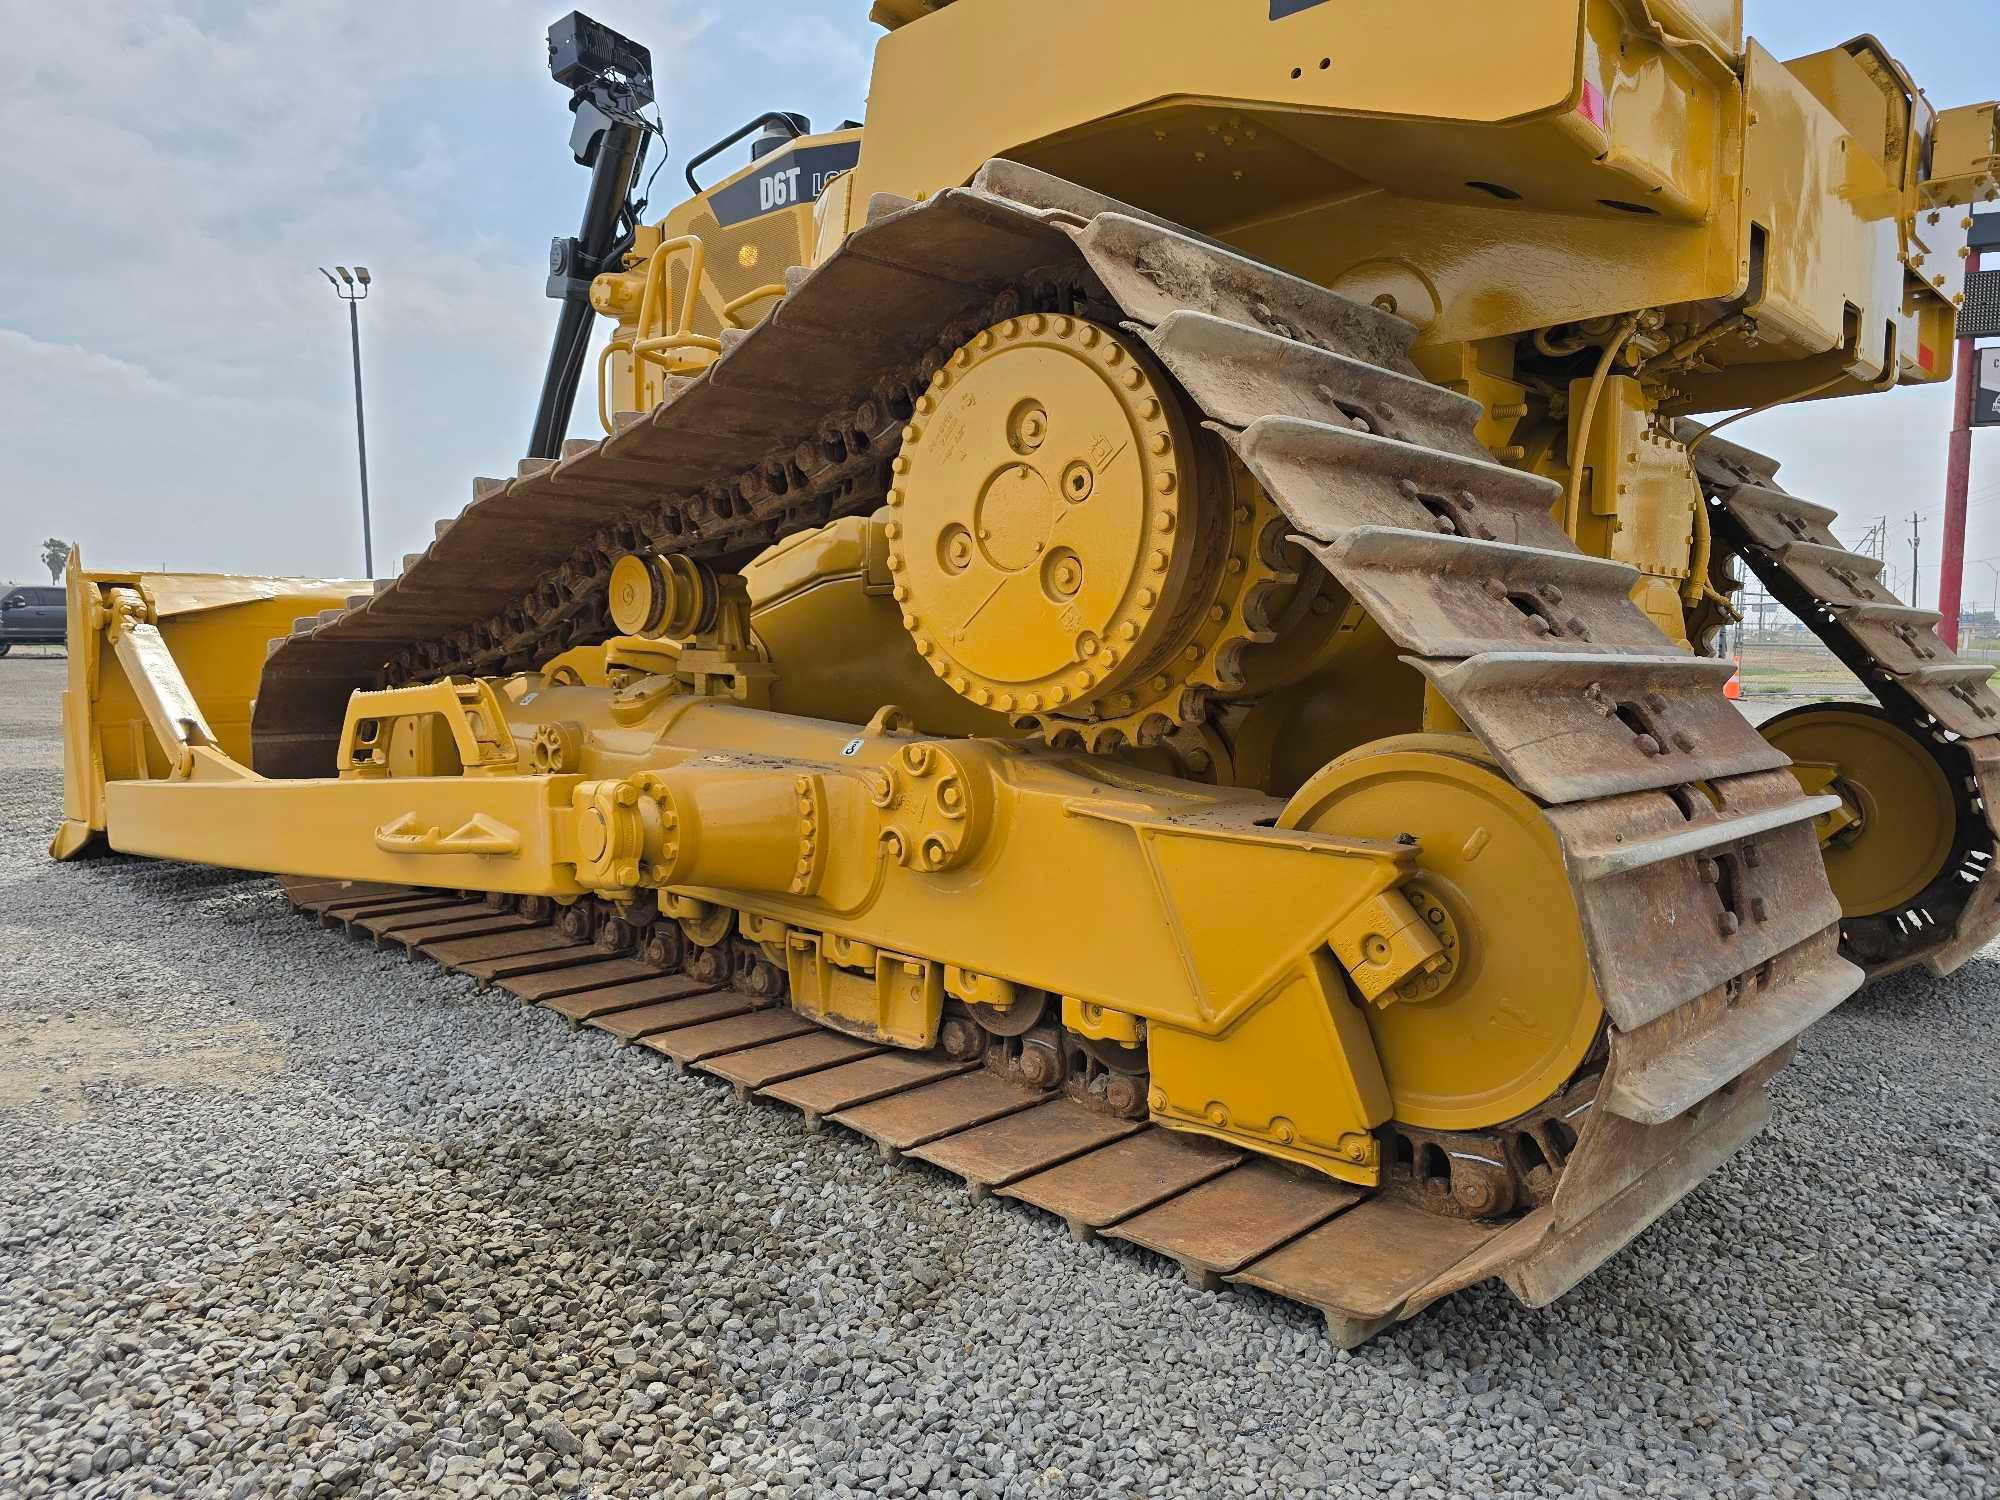
[[[268,880],[48,864],[60,672],[0,662],[0,1494],[2000,1494],[1992,960],[1554,1308],[1340,1354]]]

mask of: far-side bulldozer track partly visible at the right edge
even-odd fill
[[[1882,716],[1942,772],[1948,852],[1888,910],[1850,912],[1842,952],[1870,978],[1914,964],[1944,976],[2000,934],[2000,696],[1992,666],[1960,662],[1938,614],[1902,604],[1878,558],[1840,546],[1834,512],[1778,484],[1778,464],[1728,442],[1698,450],[1716,536],[1874,692]],[[1916,798],[1910,798],[1914,804]],[[1914,818],[1914,806],[1896,816]]]

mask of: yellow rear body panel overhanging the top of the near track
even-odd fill
[[[1930,110],[1872,38],[1780,62],[1734,0],[1164,0],[1146,46],[1120,0],[878,18],[862,198],[1008,156],[1394,302],[1426,344],[1740,302],[1756,336],[1688,372],[1692,410],[1948,374],[1952,226],[1918,216],[1992,188],[1992,106],[1940,120],[1926,178]],[[1052,36],[1076,66],[1042,66]],[[962,88],[960,58],[1008,86]]]

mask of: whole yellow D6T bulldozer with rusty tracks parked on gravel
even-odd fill
[[[2000,930],[1990,670],[1712,436],[1948,376],[1996,108],[1738,0],[872,20],[866,122],[656,222],[650,58],[558,22],[528,458],[394,578],[72,560],[54,854],[274,872],[1344,1344],[1560,1296]],[[1874,706],[1726,700],[1746,574]]]

